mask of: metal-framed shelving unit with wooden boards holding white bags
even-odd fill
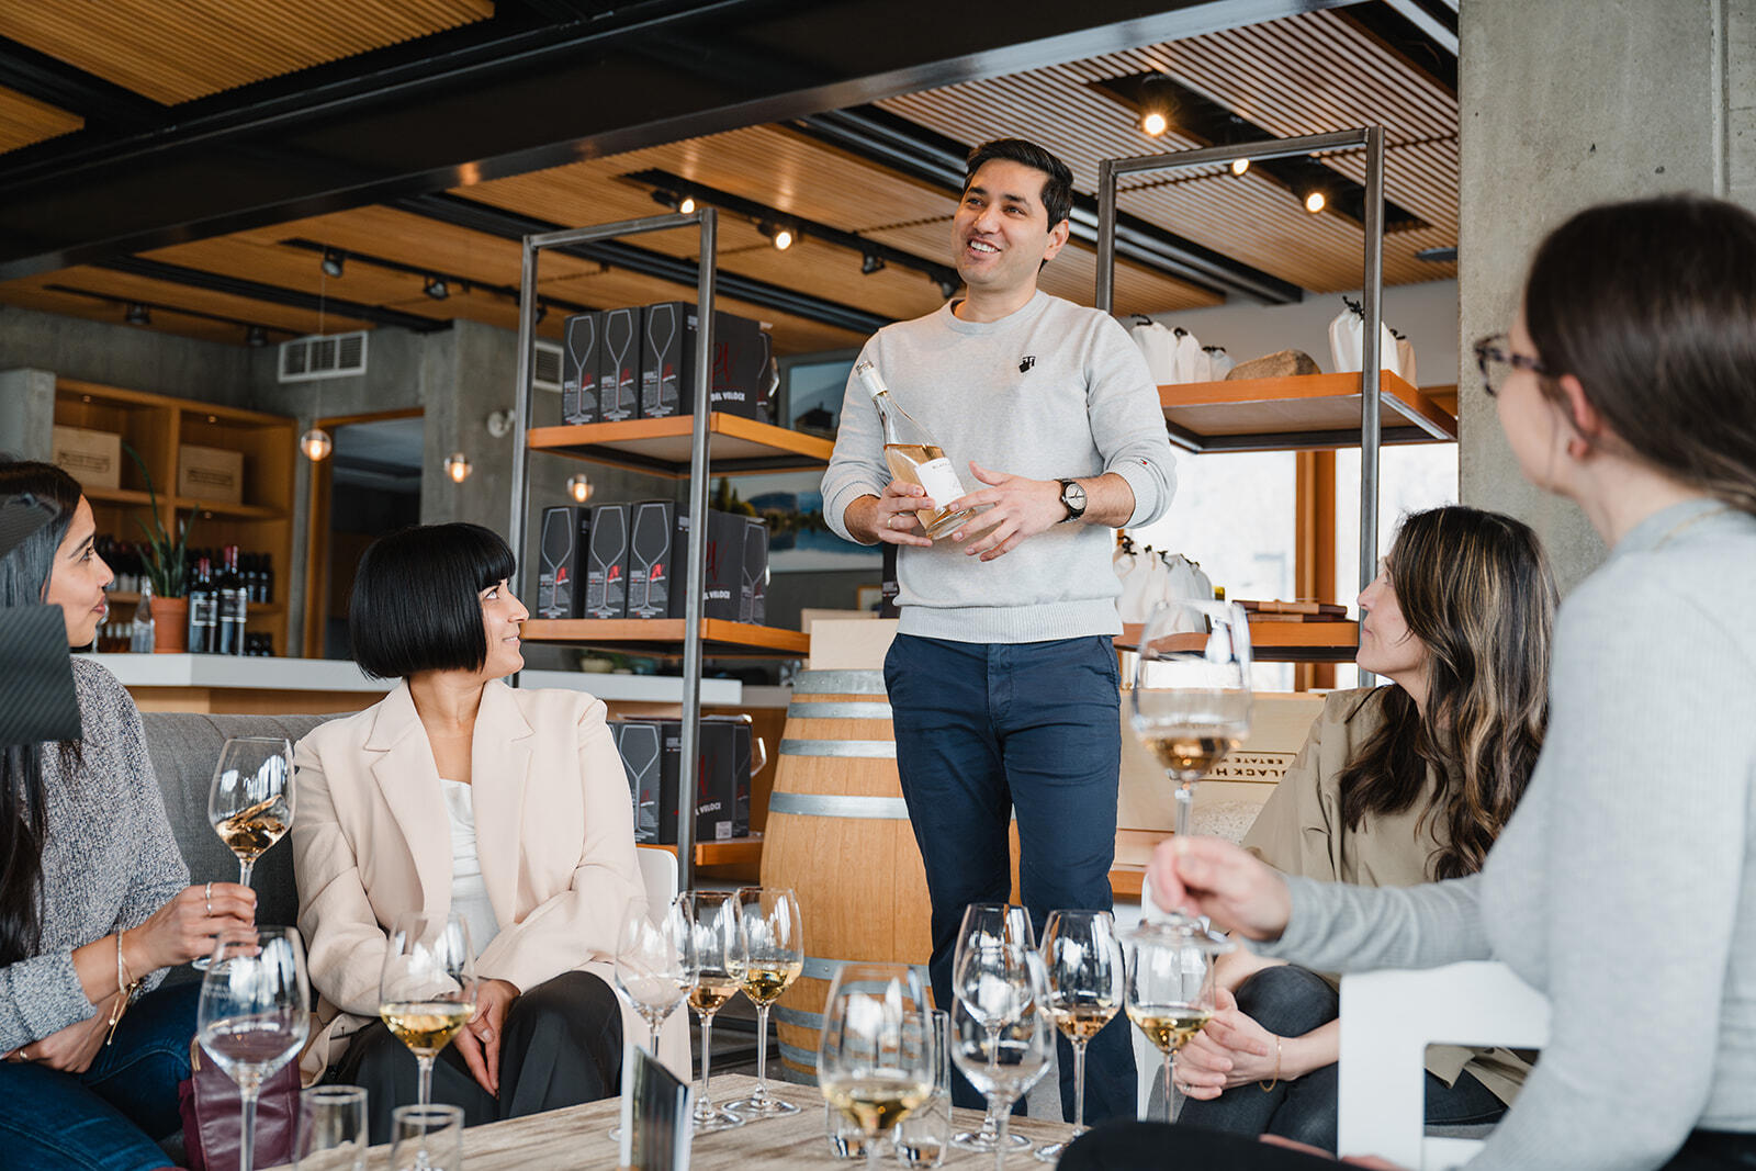
[[[1117,193],[1124,177],[1191,167],[1229,165],[1234,160],[1310,158],[1338,151],[1364,151],[1361,374],[1317,374],[1278,379],[1238,379],[1187,386],[1161,386],[1159,402],[1171,441],[1191,451],[1268,451],[1359,448],[1359,588],[1377,576],[1378,562],[1378,453],[1385,442],[1442,442],[1457,437],[1456,414],[1447,413],[1396,374],[1382,369],[1384,337],[1384,128],[1354,126],[1294,139],[1264,139],[1238,146],[1208,146],[1164,154],[1105,158],[1098,163],[1098,290],[1096,304],[1115,311]],[[1285,625],[1285,630],[1273,629]],[[1354,637],[1328,627],[1354,623],[1250,623],[1271,639],[1259,660],[1282,655],[1292,662],[1343,662],[1354,655]],[[1138,636],[1136,636],[1138,637]],[[1326,648],[1305,648],[1305,639],[1333,639]],[[1347,639],[1345,655],[1342,641]],[[1271,655],[1268,651],[1278,651]],[[1317,658],[1326,650],[1328,658]],[[1361,683],[1370,676],[1361,672]]]

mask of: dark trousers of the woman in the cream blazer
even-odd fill
[[[390,1111],[420,1094],[414,1053],[381,1020],[349,1038],[332,1080],[365,1087],[374,1143],[390,1141]],[[622,1009],[590,973],[562,973],[513,1001],[500,1031],[499,1097],[481,1088],[455,1045],[434,1062],[434,1101],[462,1106],[464,1125],[595,1103],[620,1087]]]

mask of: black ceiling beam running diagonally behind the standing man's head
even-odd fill
[[[973,144],[946,139],[889,111],[874,105],[831,111],[794,119],[792,125],[813,139],[929,183],[952,197],[964,191],[964,158]],[[1094,197],[1075,193],[1069,226],[1073,239],[1085,244],[1098,242]],[[1243,293],[1270,305],[1285,305],[1305,297],[1305,290],[1291,281],[1166,232],[1138,216],[1126,212],[1117,216],[1115,242],[1119,258],[1157,269],[1213,293]]]

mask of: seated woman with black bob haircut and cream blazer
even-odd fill
[[[299,927],[323,1025],[302,1067],[367,1087],[372,1141],[388,1141],[392,1108],[416,1096],[414,1055],[378,1020],[388,929],[404,911],[457,911],[476,948],[476,1013],[434,1067],[434,1101],[476,1125],[620,1085],[634,1018],[609,978],[622,925],[644,908],[627,774],[602,702],[504,683],[523,667],[530,616],[513,571],[479,525],[376,541],[348,630],[360,669],[399,683],[293,753]],[[664,1036],[687,1076],[687,1034]]]

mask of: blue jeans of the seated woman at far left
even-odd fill
[[[140,997],[84,1073],[0,1062],[0,1169],[169,1167],[155,1139],[176,1134],[177,1083],[190,1076],[200,983]],[[109,1017],[109,1004],[98,1008]]]

